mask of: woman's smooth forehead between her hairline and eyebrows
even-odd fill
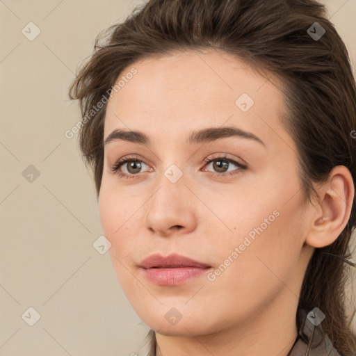
[[[136,74],[127,75],[133,69]],[[104,138],[118,128],[164,137],[225,122],[265,137],[271,129],[284,130],[280,81],[225,52],[145,58],[125,68],[119,81],[108,101]]]

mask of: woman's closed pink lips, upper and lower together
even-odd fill
[[[140,263],[147,280],[160,286],[177,286],[198,277],[211,268],[209,264],[195,261],[179,254],[167,257],[152,254]]]

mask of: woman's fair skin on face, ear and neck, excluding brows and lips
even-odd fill
[[[177,52],[134,63],[120,77],[131,67],[138,73],[109,99],[104,139],[127,129],[143,131],[152,143],[105,145],[99,212],[122,289],[156,331],[156,356],[286,356],[297,337],[307,263],[314,248],[339,236],[350,216],[350,172],[334,168],[318,188],[320,202],[304,199],[296,144],[280,121],[286,111],[280,84],[242,60],[213,51]],[[235,104],[242,93],[254,100],[247,112]],[[192,131],[227,125],[253,133],[264,145],[241,137],[185,143]],[[127,163],[120,170],[136,177],[111,171],[133,154],[142,160],[141,170],[129,170]],[[204,159],[222,154],[248,167],[229,163],[236,174],[221,176],[223,170]],[[172,164],[183,173],[175,183],[164,175]],[[214,270],[273,211],[279,216],[216,280],[204,274],[180,286],[157,286],[138,267],[150,254],[176,252]],[[165,318],[172,307],[181,314],[175,325]]]

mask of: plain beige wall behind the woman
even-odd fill
[[[92,246],[102,235],[94,184],[76,136],[64,135],[80,119],[67,99],[77,65],[139,3],[0,0],[0,355],[129,356],[147,334]],[[355,70],[356,1],[323,3]],[[29,22],[41,31],[33,41]],[[32,183],[29,165],[40,173]],[[29,307],[41,316],[33,326]]]

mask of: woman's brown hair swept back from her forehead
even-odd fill
[[[312,38],[319,25],[325,34]],[[88,118],[102,98],[107,102],[118,76],[129,65],[186,49],[225,51],[257,71],[282,77],[288,108],[284,125],[298,148],[306,198],[311,199],[314,184],[325,182],[337,165],[350,170],[355,184],[356,140],[350,134],[356,129],[355,80],[345,44],[326,18],[325,6],[314,0],[150,0],[135,8],[124,23],[99,34],[94,54],[72,83],[70,99],[79,99],[83,118]],[[83,120],[79,133],[98,195],[105,109],[106,105]],[[348,251],[355,225],[354,203],[337,240],[316,248],[298,304],[298,308],[318,307],[326,314],[323,330],[342,356],[356,354],[356,335],[346,311],[350,270],[344,264],[355,266]]]

